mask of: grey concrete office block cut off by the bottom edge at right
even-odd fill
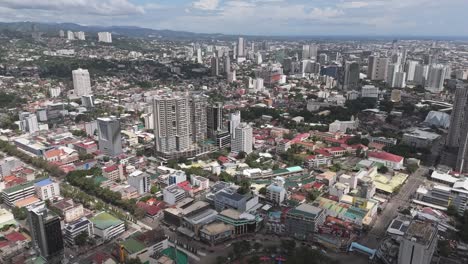
[[[430,264],[437,246],[437,223],[412,220],[398,252],[399,264]]]

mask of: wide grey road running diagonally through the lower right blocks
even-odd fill
[[[370,248],[376,248],[385,236],[387,227],[397,216],[399,208],[408,207],[411,204],[411,196],[416,193],[418,187],[424,183],[429,169],[421,166],[416,172],[408,177],[398,194],[392,197],[382,213],[377,217],[374,226],[367,235],[359,240],[359,243]]]

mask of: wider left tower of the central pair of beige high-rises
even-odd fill
[[[153,99],[155,147],[158,152],[190,148],[190,102],[188,96],[163,95]]]

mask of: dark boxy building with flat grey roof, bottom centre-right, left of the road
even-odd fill
[[[307,240],[311,234],[317,232],[324,218],[325,214],[321,208],[301,204],[286,213],[285,231],[297,239]]]

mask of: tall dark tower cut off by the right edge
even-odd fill
[[[466,130],[461,130],[465,120],[465,113],[468,111],[468,88],[462,83],[458,84],[454,98],[450,127],[445,141],[445,145],[450,148],[458,148],[461,144],[460,139],[465,137],[462,133],[468,133]]]

